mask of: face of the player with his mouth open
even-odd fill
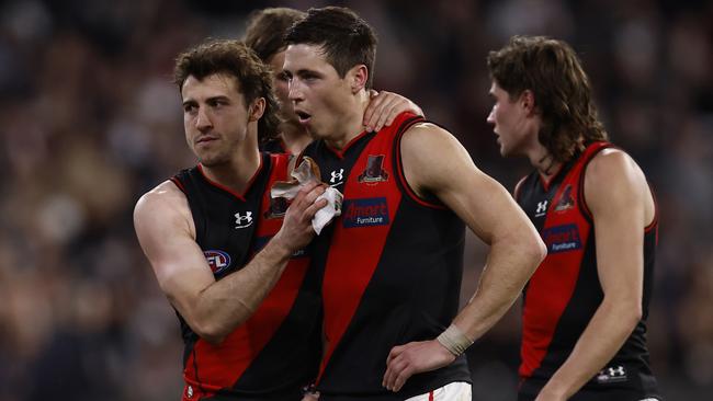
[[[350,113],[353,96],[347,80],[325,58],[321,46],[290,45],[284,72],[299,124],[318,138],[340,135],[340,124]]]

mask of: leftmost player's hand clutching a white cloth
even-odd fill
[[[315,230],[312,228],[312,218],[315,217],[317,210],[327,206],[326,199],[315,200],[325,193],[325,184],[317,182],[305,184],[285,211],[282,227],[274,240],[280,241],[291,253],[306,247],[314,238]]]

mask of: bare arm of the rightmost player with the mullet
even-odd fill
[[[644,173],[619,150],[587,168],[585,199],[593,217],[597,271],[604,298],[571,354],[537,400],[566,400],[611,360],[642,317],[644,228],[654,200]]]

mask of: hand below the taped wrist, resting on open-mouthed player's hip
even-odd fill
[[[382,386],[397,392],[412,375],[435,370],[453,360],[455,355],[435,340],[395,346],[386,358],[386,374]]]

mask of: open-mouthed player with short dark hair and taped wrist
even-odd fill
[[[527,216],[445,129],[401,113],[362,129],[376,39],[343,8],[310,9],[290,30],[284,70],[316,138],[304,154],[343,195],[316,239],[324,271],[321,400],[469,400],[465,348],[518,298],[544,245]],[[467,225],[491,245],[459,312]]]

